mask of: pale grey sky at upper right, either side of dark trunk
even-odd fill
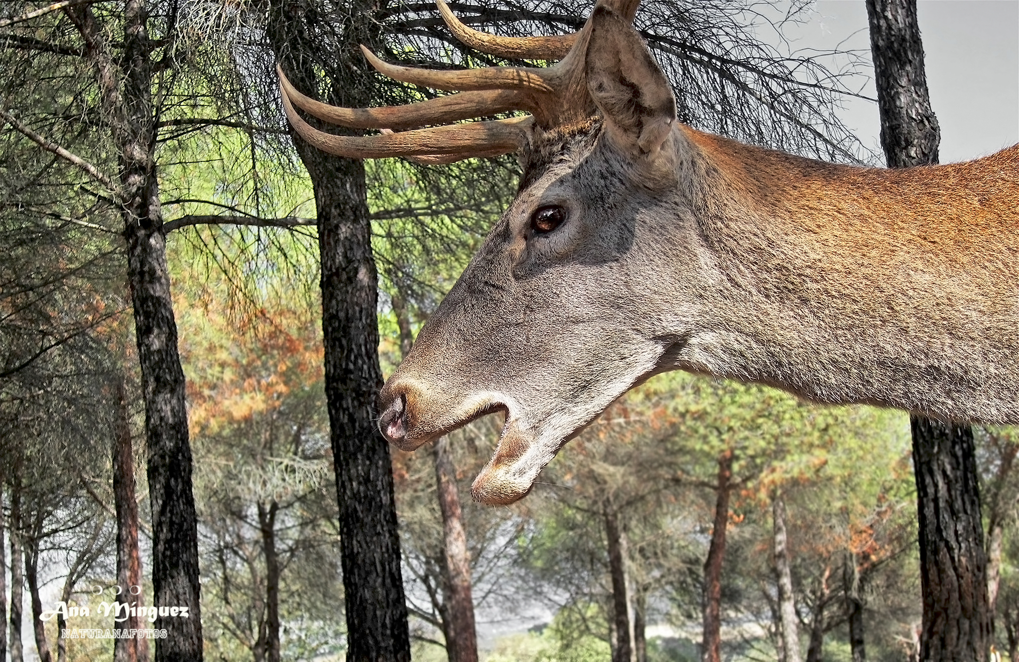
[[[942,129],[943,163],[1019,143],[1019,0],[919,0],[930,103]],[[869,60],[863,0],[817,0],[810,20],[787,32],[796,49],[860,49]],[[872,71],[861,93],[875,97]],[[860,80],[861,84],[864,81]],[[881,154],[875,104],[851,100],[842,116]]]

